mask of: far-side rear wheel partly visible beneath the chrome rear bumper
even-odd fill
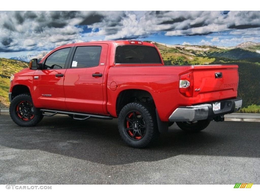
[[[176,124],[185,132],[196,133],[205,129],[211,120],[199,120],[191,122],[176,122]]]

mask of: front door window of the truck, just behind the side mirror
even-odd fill
[[[67,60],[70,48],[60,49],[52,53],[45,60],[44,69],[63,69]]]

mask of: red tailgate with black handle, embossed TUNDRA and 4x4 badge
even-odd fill
[[[194,66],[193,104],[237,96],[238,66]]]

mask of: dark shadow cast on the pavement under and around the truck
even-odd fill
[[[19,127],[1,115],[0,145],[37,149],[105,165],[159,161],[177,155],[260,157],[259,123],[211,122],[199,133],[187,134],[177,125],[149,148],[128,147],[120,138],[117,120],[73,120],[44,117],[35,127]]]

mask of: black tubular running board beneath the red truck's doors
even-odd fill
[[[60,110],[46,110],[46,109],[41,109],[42,115],[43,116],[54,116],[56,114],[71,114],[73,115],[73,119],[76,120],[87,120],[89,118],[96,118],[96,119],[108,119],[112,120],[113,118],[110,116],[103,116],[103,115],[95,115],[95,114],[84,114],[84,113],[76,113],[76,112],[66,112],[66,111],[60,111]],[[83,118],[79,118],[76,116],[83,116]]]

